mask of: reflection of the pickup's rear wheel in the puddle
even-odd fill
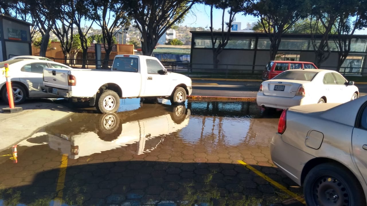
[[[113,141],[117,139],[122,132],[120,118],[115,113],[103,114],[99,118],[97,125],[97,135],[104,141]]]

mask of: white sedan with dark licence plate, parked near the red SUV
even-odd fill
[[[326,69],[287,70],[262,82],[256,96],[258,106],[286,109],[315,103],[344,103],[358,98],[359,90],[336,71]]]

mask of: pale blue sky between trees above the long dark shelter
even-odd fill
[[[214,29],[221,28],[222,24],[222,12],[223,10],[215,9],[213,11],[213,27]],[[228,22],[228,12],[225,12],[225,22]],[[258,17],[251,15],[243,15],[243,13],[238,13],[235,16],[235,22],[241,22],[241,28],[245,29],[247,23],[257,22]],[[181,25],[190,27],[208,27],[210,26],[210,6],[203,4],[195,4],[191,10],[186,14],[185,21]],[[367,29],[356,31],[354,34],[367,35]]]

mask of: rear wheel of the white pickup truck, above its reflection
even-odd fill
[[[106,89],[101,92],[96,103],[95,108],[100,113],[114,113],[119,109],[120,97],[115,91]]]

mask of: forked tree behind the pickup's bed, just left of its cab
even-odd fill
[[[95,12],[94,20],[102,29],[103,47],[105,48],[105,59],[103,68],[108,67],[108,60],[113,46],[113,37],[123,27],[128,30],[130,17],[127,15],[125,1],[119,0],[91,0],[92,12]]]

